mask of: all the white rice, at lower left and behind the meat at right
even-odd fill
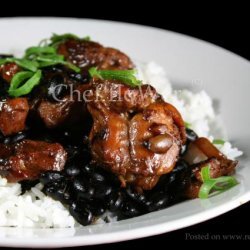
[[[206,136],[213,140],[214,133],[211,127],[220,128],[221,125],[213,109],[212,99],[205,91],[199,93],[188,90],[173,91],[165,70],[154,62],[140,65],[139,76],[145,83],[155,86],[165,100],[180,111],[184,120],[191,124],[191,128],[199,136]],[[229,142],[216,146],[231,159],[242,155],[242,152],[232,147]],[[38,184],[29,192],[20,195],[20,184],[7,183],[6,179],[0,177],[0,226],[64,228],[78,225],[67,208],[60,202],[45,196],[41,189],[42,184]],[[106,213],[96,223],[107,220],[115,221],[116,217]]]

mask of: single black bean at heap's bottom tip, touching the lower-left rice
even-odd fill
[[[91,211],[86,207],[82,206],[82,204],[73,202],[69,207],[69,212],[81,225],[87,226],[91,224],[93,220],[93,215]]]

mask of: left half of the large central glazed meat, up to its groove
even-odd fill
[[[101,103],[88,105],[94,120],[89,136],[93,157],[112,172],[125,175],[130,166],[128,120]]]

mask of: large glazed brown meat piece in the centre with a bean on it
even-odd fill
[[[124,186],[132,182],[138,189],[151,189],[161,175],[174,168],[185,143],[181,115],[153,87],[139,90],[117,81],[102,84],[113,87],[119,101],[114,105],[105,94],[100,96],[93,83],[95,98],[87,103],[94,120],[89,137],[93,157],[117,174]],[[118,85],[122,87],[119,93]],[[140,95],[140,99],[139,91],[143,93],[148,87],[154,95]],[[128,93],[136,98],[126,99]]]

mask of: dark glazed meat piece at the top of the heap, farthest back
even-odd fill
[[[58,53],[80,68],[96,66],[99,69],[132,69],[133,63],[127,55],[99,43],[69,39],[58,47]]]

